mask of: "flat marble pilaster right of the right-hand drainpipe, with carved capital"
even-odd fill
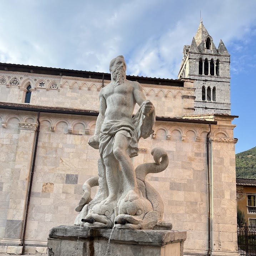
[[[238,256],[235,143],[230,137],[210,137],[211,255]]]

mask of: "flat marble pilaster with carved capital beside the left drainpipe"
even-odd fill
[[[19,123],[20,135],[15,159],[15,170],[10,192],[10,205],[3,244],[19,246],[26,214],[26,198],[29,190],[30,169],[34,151],[37,124]]]

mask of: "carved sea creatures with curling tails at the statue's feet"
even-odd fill
[[[85,227],[112,228],[115,223],[117,229],[170,230],[172,224],[162,220],[164,204],[161,196],[154,187],[145,181],[147,174],[159,173],[167,168],[168,154],[161,147],[155,147],[152,149],[151,155],[154,158],[154,163],[141,164],[135,169],[139,196],[136,198],[125,197],[127,191],[120,187],[117,200],[107,205],[102,204],[102,201],[108,196],[106,171],[101,158],[98,159],[99,176],[88,179],[82,186],[84,195],[75,209],[79,214],[74,224]],[[119,180],[120,184],[124,182],[121,170],[119,171]],[[91,187],[94,186],[99,186],[99,189],[92,199]],[[122,200],[124,198],[125,200]],[[83,222],[82,219],[85,219],[86,222]]]

